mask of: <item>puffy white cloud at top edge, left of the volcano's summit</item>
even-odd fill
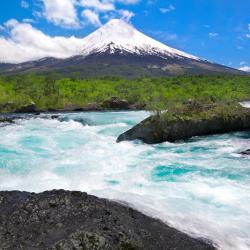
[[[79,27],[75,0],[43,0],[44,16],[55,25],[66,28]]]

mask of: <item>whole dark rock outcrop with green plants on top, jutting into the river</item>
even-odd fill
[[[145,119],[121,134],[117,142],[142,140],[155,144],[244,130],[250,130],[250,109],[238,103],[200,105],[190,102]]]

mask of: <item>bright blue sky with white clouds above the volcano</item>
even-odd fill
[[[54,37],[61,48],[70,41],[77,46],[74,37],[123,18],[174,48],[235,68],[250,66],[249,0],[11,0],[1,1],[0,11],[2,61],[29,59],[36,47],[42,56],[41,47],[51,42],[46,49],[52,50]]]

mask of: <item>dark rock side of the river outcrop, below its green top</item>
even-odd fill
[[[250,110],[242,107],[232,111],[231,114],[209,114],[207,118],[183,116],[168,120],[166,117],[151,116],[145,119],[121,134],[117,142],[141,140],[154,144],[250,129]]]

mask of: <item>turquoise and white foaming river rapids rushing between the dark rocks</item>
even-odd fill
[[[60,114],[0,127],[0,190],[63,188],[120,200],[222,249],[250,249],[250,133],[117,144],[149,114]]]

